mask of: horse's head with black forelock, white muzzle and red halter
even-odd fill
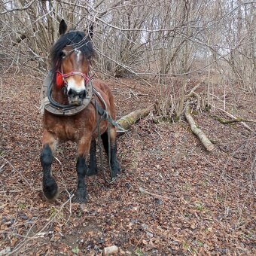
[[[59,40],[53,45],[51,52],[54,84],[57,89],[66,88],[69,105],[81,105],[86,95],[86,87],[90,81],[90,59],[94,56],[90,35],[82,31],[70,30],[64,20],[59,24]]]

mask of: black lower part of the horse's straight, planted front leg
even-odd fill
[[[77,161],[78,189],[75,193],[75,202],[85,203],[87,201],[87,189],[84,177],[87,173],[87,166],[84,157],[78,157]]]

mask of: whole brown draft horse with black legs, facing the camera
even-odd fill
[[[64,20],[59,23],[61,35],[51,51],[53,81],[48,96],[50,102],[57,108],[79,108],[87,99],[87,87],[93,84],[93,97],[86,108],[73,115],[56,115],[47,108],[44,109],[44,132],[42,136],[41,166],[43,169],[43,191],[45,197],[53,200],[58,196],[58,186],[51,173],[53,154],[58,142],[78,142],[78,160],[76,170],[78,187],[75,192],[75,202],[87,201],[85,175],[95,175],[96,169],[96,138],[101,135],[105,151],[111,167],[111,178],[120,174],[117,162],[116,130],[108,120],[99,120],[98,108],[107,111],[111,120],[115,120],[116,111],[114,98],[108,85],[99,80],[90,80],[90,59],[94,56],[92,42],[92,27],[90,36],[81,31],[66,32]],[[97,107],[96,107],[97,106]],[[106,109],[105,109],[106,108]],[[106,112],[104,112],[106,114]],[[110,143],[110,146],[109,146]],[[89,168],[86,160],[90,153]]]

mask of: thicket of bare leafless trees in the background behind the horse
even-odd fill
[[[168,84],[218,72],[255,93],[255,2],[182,1],[0,1],[2,69],[44,73],[50,47],[64,18],[74,29],[94,24],[102,75],[136,75]],[[209,92],[208,92],[209,93]]]

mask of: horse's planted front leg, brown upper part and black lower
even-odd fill
[[[77,174],[78,174],[78,187],[75,192],[74,201],[76,203],[87,202],[87,187],[84,181],[85,175],[87,174],[86,158],[90,151],[90,136],[84,136],[78,143],[78,160],[77,160]]]

